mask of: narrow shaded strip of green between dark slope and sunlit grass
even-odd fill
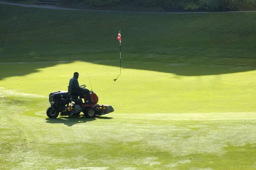
[[[209,58],[208,58],[209,59]],[[237,73],[244,71],[251,71],[256,69],[255,59],[246,58],[229,58],[219,59],[215,61],[204,61],[191,59],[191,61],[172,60],[169,62],[162,61],[136,61],[136,60],[124,60],[122,69],[140,69],[149,71],[158,71],[165,73],[172,73],[178,76],[205,76],[205,75],[219,75],[228,73]],[[212,60],[215,60],[214,58]],[[82,62],[89,62],[93,64],[119,67],[118,60],[107,59],[84,59],[76,60]],[[0,63],[0,80],[7,77],[23,76],[31,73],[39,72],[41,68],[54,67],[58,64],[70,64],[74,61],[52,61],[52,62],[20,62],[20,63]],[[70,73],[72,75],[73,72]],[[54,76],[54,75],[53,75]],[[112,77],[112,80],[116,81],[120,76],[119,71],[117,77]]]

